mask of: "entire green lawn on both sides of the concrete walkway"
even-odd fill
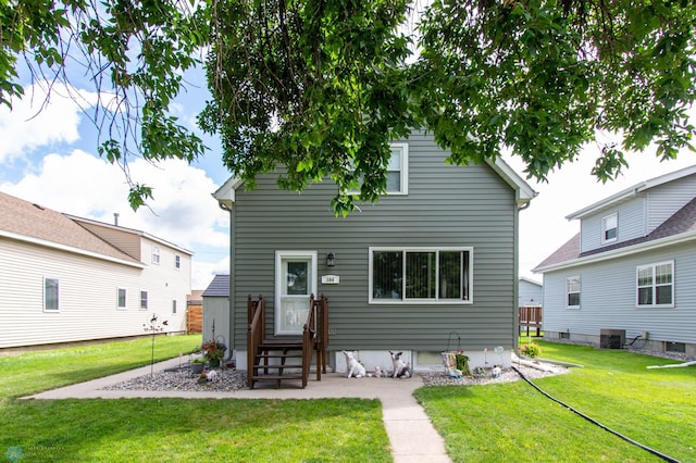
[[[200,336],[158,338],[156,356],[199,342]],[[543,358],[585,366],[534,380],[545,391],[645,446],[696,462],[695,367],[647,370],[673,362],[536,342]],[[41,462],[391,461],[374,400],[16,399],[146,365],[150,346],[142,339],[1,356],[0,452]],[[524,381],[425,387],[417,398],[456,462],[660,461]]]

